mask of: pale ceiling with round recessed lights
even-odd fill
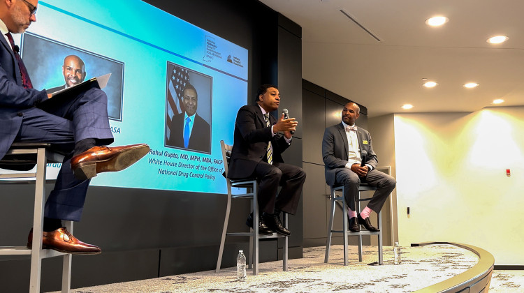
[[[302,27],[303,78],[364,105],[369,117],[472,112],[495,98],[524,105],[524,0],[260,1]],[[428,27],[437,15],[449,22]],[[486,43],[495,35],[509,40]],[[439,85],[426,89],[423,78]]]

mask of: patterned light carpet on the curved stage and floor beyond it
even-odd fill
[[[325,264],[325,247],[305,248],[304,257],[282,262],[265,262],[258,276],[248,271],[236,280],[236,268],[220,273],[203,271],[177,276],[115,283],[72,290],[78,293],[106,292],[412,292],[456,276],[476,264],[476,255],[448,245],[402,247],[402,263],[393,264],[393,249],[384,247],[384,265],[377,262],[377,248],[363,248],[358,262],[357,247],[349,247],[349,266],[343,265],[342,246],[333,246]],[[231,257],[235,257],[231,255]],[[495,271],[490,292],[524,292],[524,271]]]

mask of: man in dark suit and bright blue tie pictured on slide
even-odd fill
[[[171,119],[168,145],[210,153],[211,128],[209,123],[196,113],[198,93],[191,84],[187,84],[182,92],[184,112],[175,114]]]

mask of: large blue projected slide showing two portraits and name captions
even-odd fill
[[[51,93],[111,73],[113,145],[151,148],[92,186],[226,193],[220,140],[233,143],[247,104],[245,48],[140,0],[39,1],[38,20],[15,38],[34,87]]]

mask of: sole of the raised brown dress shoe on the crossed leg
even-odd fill
[[[138,160],[147,155],[149,151],[150,147],[147,145],[134,147],[132,149],[124,149],[108,160],[80,163],[78,164],[78,167],[73,170],[73,173],[76,178],[87,180],[95,177],[96,174],[99,173],[122,171],[138,162]]]

